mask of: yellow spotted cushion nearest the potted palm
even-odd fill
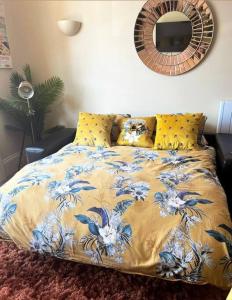
[[[74,143],[84,146],[110,147],[110,133],[115,116],[79,113]]]

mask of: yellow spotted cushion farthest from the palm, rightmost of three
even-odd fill
[[[203,114],[156,115],[157,130],[154,149],[196,149]]]

